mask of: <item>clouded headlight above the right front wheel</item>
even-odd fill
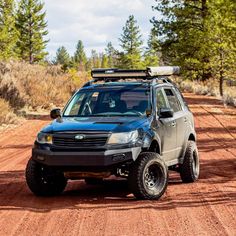
[[[108,144],[125,144],[135,142],[138,139],[138,131],[134,130],[125,133],[114,133],[110,136]]]

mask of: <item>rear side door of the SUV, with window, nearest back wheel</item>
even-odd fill
[[[176,123],[176,147],[175,147],[175,158],[178,158],[184,147],[185,142],[185,130],[186,130],[186,117],[183,106],[181,105],[179,98],[174,88],[164,89],[169,106],[174,111],[173,120]]]

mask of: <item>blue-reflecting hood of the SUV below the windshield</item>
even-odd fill
[[[63,131],[129,132],[147,121],[147,117],[62,117],[42,129],[46,133]]]

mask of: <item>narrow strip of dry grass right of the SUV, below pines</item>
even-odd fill
[[[182,81],[180,78],[175,79],[175,82],[179,85],[179,88],[183,92],[190,92],[199,95],[215,96],[220,98],[224,104],[236,106],[236,86],[229,87],[224,83],[224,96],[221,97],[219,93],[218,83],[214,80],[207,82],[200,81]]]

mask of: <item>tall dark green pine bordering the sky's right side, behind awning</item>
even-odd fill
[[[207,1],[158,1],[154,9],[163,17],[151,20],[161,39],[164,62],[178,64],[186,77],[202,80],[212,76],[206,35]]]

